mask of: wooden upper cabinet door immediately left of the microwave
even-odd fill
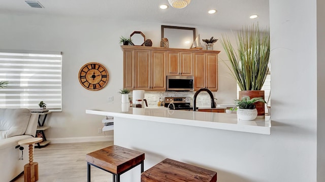
[[[151,51],[151,90],[166,90],[166,51]]]

